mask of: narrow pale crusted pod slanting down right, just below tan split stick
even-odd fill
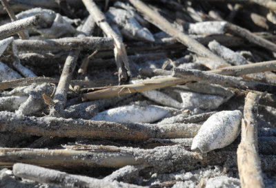
[[[145,92],[141,92],[141,94],[143,96],[146,96],[150,100],[155,101],[156,103],[159,103],[164,106],[175,107],[175,108],[182,107],[181,103],[179,103],[178,101],[171,98],[170,96],[168,96],[162,92],[159,92],[157,90],[148,90]]]

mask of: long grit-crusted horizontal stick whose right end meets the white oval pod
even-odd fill
[[[34,116],[0,112],[0,132],[20,132],[37,136],[71,138],[115,138],[146,140],[149,138],[193,138],[201,125],[197,124],[142,124],[113,123]]]

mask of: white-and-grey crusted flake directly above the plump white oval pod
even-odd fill
[[[217,109],[224,103],[223,96],[211,94],[199,94],[194,92],[180,92],[183,108]]]

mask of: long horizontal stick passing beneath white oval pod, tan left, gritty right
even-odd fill
[[[275,156],[261,155],[260,158],[264,171],[275,170]],[[224,163],[228,163],[230,167],[237,167],[237,154],[218,150],[203,156],[197,152],[188,152],[181,145],[154,149],[103,145],[68,145],[66,149],[0,148],[0,166],[12,167],[14,163],[28,163],[55,169],[144,165],[153,167],[154,171],[166,173],[179,170],[190,171],[207,165],[224,165]]]

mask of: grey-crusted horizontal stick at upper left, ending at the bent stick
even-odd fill
[[[113,39],[106,37],[68,37],[44,40],[15,40],[19,50],[53,51],[53,50],[109,50],[113,47]]]

